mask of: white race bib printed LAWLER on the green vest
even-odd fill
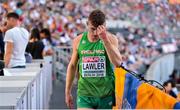
[[[82,58],[82,77],[105,77],[105,56],[91,56]]]

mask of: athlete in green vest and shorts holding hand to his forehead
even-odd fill
[[[73,40],[73,53],[67,69],[65,101],[73,107],[71,95],[75,71],[78,67],[78,109],[111,109],[114,104],[114,67],[121,64],[117,37],[106,31],[105,14],[101,10],[90,13],[88,32]]]

